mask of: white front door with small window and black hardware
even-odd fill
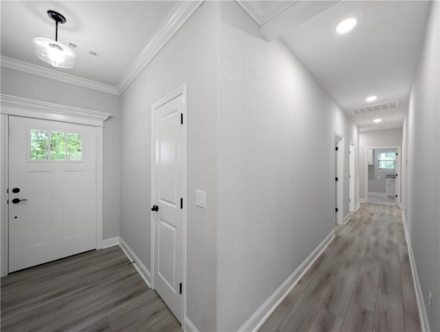
[[[96,248],[96,128],[9,117],[9,269]]]

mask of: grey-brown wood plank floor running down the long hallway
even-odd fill
[[[363,204],[259,331],[421,331],[401,210]]]

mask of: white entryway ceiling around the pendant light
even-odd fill
[[[56,10],[67,19],[58,25],[58,41],[69,39],[81,47],[74,68],[57,71],[115,87],[177,2],[1,1],[1,55],[54,69],[35,56],[32,39],[55,38],[47,10]]]

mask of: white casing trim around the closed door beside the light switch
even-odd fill
[[[154,115],[155,110],[157,108],[161,107],[165,103],[168,103],[168,101],[173,100],[174,98],[177,98],[178,96],[183,96],[184,98],[184,107],[182,109],[182,113],[184,114],[184,124],[183,124],[183,130],[184,130],[184,148],[183,148],[183,166],[184,166],[184,183],[183,183],[183,192],[182,196],[184,198],[184,212],[183,212],[183,218],[182,218],[182,282],[183,282],[183,290],[182,290],[182,297],[181,297],[181,324],[184,326],[185,318],[186,318],[186,214],[187,214],[187,147],[188,147],[188,138],[187,138],[187,85],[186,83],[184,85],[181,85],[173,92],[170,92],[163,98],[160,98],[158,101],[153,103],[151,105],[151,205],[153,205],[153,202],[155,202],[155,121],[154,121]],[[151,288],[154,289],[154,276],[155,276],[155,220],[154,220],[154,214],[151,213],[151,266],[150,266],[150,272],[151,272]]]

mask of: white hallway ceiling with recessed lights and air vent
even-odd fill
[[[430,1],[340,1],[281,37],[346,111],[399,101],[391,110],[353,115],[361,130],[401,127]],[[293,6],[295,7],[295,6]],[[358,17],[347,34],[337,23]],[[375,95],[373,103],[365,101]],[[380,123],[373,119],[381,118]]]

